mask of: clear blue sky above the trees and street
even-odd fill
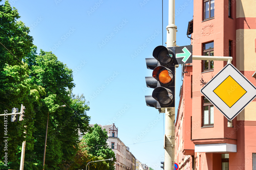
[[[152,70],[146,68],[145,58],[153,57],[154,48],[162,45],[162,32],[165,45],[168,1],[163,5],[163,30],[162,1],[10,0],[9,3],[30,27],[37,48],[52,51],[74,71],[73,93],[84,94],[90,102],[87,113],[91,116],[90,123],[115,123],[118,137],[134,156],[156,170],[161,169],[163,114],[146,106],[144,96],[152,95],[153,89],[146,87],[145,76],[152,76]],[[175,7],[177,45],[190,45],[186,32],[188,21],[193,19],[193,0],[176,1]],[[144,43],[146,46],[141,47]],[[179,67],[176,96],[181,84]],[[176,113],[178,103],[176,100]],[[146,142],[152,140],[158,141]],[[138,144],[129,145],[132,143]]]

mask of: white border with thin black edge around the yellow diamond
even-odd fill
[[[213,92],[229,75],[247,91],[231,108]],[[232,64],[221,69],[200,91],[228,120],[234,119],[256,97],[256,87]]]

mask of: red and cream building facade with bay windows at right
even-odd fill
[[[256,1],[248,0],[194,0],[188,28],[193,55],[232,56],[232,64],[256,85],[255,7]],[[200,93],[226,64],[193,60],[193,66],[183,66],[175,127],[175,161],[180,169],[256,169],[256,100],[228,127],[227,118]]]

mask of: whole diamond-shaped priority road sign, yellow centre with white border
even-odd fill
[[[232,64],[227,64],[200,91],[228,120],[256,97],[256,87]]]

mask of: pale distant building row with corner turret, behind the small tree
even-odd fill
[[[90,124],[91,127],[94,124]],[[102,130],[106,130],[108,134],[107,143],[109,147],[114,151],[116,162],[115,169],[116,170],[135,170],[136,168],[136,158],[129,151],[129,147],[126,147],[124,143],[118,138],[118,128],[113,123],[112,125],[99,125]],[[83,134],[80,134],[79,139],[81,140]]]

